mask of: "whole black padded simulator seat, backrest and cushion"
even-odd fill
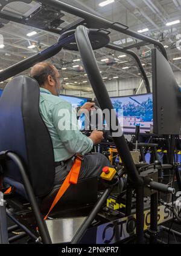
[[[40,209],[46,212],[60,186],[54,187],[54,152],[40,116],[39,96],[39,85],[32,77],[16,76],[7,84],[0,98],[0,152],[13,151],[21,158]],[[19,170],[11,161],[5,163],[4,177],[26,197]],[[96,200],[97,177],[92,177],[71,185],[55,210]]]

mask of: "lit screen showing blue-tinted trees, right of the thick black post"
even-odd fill
[[[152,94],[110,97],[123,133],[135,133],[136,125],[140,133],[150,132],[153,126]]]

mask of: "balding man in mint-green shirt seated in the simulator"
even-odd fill
[[[59,97],[61,84],[57,68],[52,64],[40,62],[31,68],[30,76],[34,77],[39,83],[40,114],[48,128],[54,148],[56,163],[54,185],[60,185],[66,179],[73,164],[72,157],[77,153],[83,155],[78,180],[94,176],[97,176],[99,179],[103,167],[111,166],[110,162],[103,154],[87,153],[92,150],[94,145],[103,140],[103,132],[92,131],[90,136],[86,137],[80,132],[77,122],[76,125],[70,123],[70,126],[74,126],[74,130],[61,129],[61,122],[63,123],[63,119],[65,119],[65,116],[60,116],[61,110],[63,112],[67,111],[73,117],[76,116],[73,120],[77,120],[77,114],[69,102]],[[81,107],[81,109],[88,111],[91,111],[92,108],[94,108],[94,103],[91,102],[87,102]],[[69,122],[72,122],[71,119]]]

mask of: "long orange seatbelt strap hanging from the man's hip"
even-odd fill
[[[64,180],[62,186],[60,187],[59,191],[57,192],[56,198],[54,199],[54,202],[52,202],[51,208],[49,209],[49,212],[51,212],[52,208],[59,202],[63,194],[66,192],[66,190],[69,188],[71,184],[77,184],[78,175],[80,173],[80,167],[81,167],[81,159],[76,157],[74,165],[72,165],[71,171],[69,171],[68,176]],[[49,214],[48,212],[48,214]],[[48,217],[48,214],[44,217],[44,220]]]

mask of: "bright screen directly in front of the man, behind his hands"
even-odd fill
[[[60,94],[60,97],[71,103],[73,108],[81,107],[86,102],[91,102],[92,99],[86,97],[75,97],[69,95]],[[82,114],[78,119],[78,126],[80,130],[84,130],[84,114]]]

